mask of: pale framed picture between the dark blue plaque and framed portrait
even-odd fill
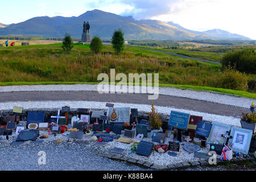
[[[229,125],[225,125],[218,122],[212,122],[212,129],[210,129],[209,137],[207,138],[207,143],[215,143],[215,144],[223,144],[224,137],[221,135],[225,135],[226,131],[230,131]]]

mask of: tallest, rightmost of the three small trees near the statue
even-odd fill
[[[115,49],[116,53],[119,53],[123,50],[125,39],[123,38],[123,32],[121,29],[114,31],[111,43],[113,44],[113,48]]]

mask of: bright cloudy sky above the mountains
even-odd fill
[[[256,40],[256,0],[6,0],[0,5],[0,22],[5,24],[99,9],[135,19],[173,21],[190,30],[218,28]]]

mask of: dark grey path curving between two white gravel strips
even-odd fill
[[[170,106],[177,109],[200,111],[209,114],[228,115],[237,117],[238,113],[246,113],[242,107],[217,104],[213,102],[193,100],[190,98],[159,95],[158,100],[148,100],[147,94],[99,94],[92,91],[79,92],[9,92],[0,93],[0,102],[10,101],[99,101],[121,102],[131,104]]]

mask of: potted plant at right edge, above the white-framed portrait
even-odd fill
[[[241,126],[243,129],[249,129],[255,131],[255,124],[256,124],[256,113],[255,113],[255,105],[251,104],[250,107],[251,113],[242,113],[242,118],[241,118]]]

